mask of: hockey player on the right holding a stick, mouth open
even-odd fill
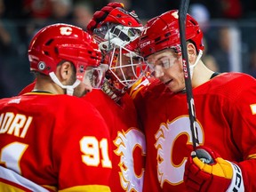
[[[243,73],[217,74],[206,68],[200,60],[202,31],[187,15],[197,149],[212,157],[213,162],[207,164],[192,148],[178,11],[164,12],[148,20],[144,28],[141,55],[161,81],[140,90],[134,100],[148,148],[144,191],[255,191],[255,79]]]

